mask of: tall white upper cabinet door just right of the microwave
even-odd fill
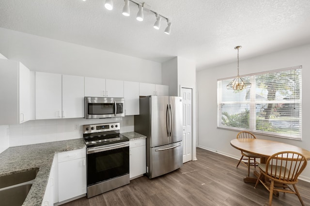
[[[125,115],[139,115],[139,82],[124,81]]]

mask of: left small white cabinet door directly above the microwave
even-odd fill
[[[105,97],[106,79],[85,76],[85,97]]]

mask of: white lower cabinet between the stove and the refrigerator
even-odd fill
[[[146,171],[145,138],[129,141],[130,179],[142,176]]]

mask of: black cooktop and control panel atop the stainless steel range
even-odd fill
[[[129,141],[127,137],[120,134],[119,122],[84,125],[83,129],[83,139],[86,147],[97,147]]]

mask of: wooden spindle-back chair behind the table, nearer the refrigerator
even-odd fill
[[[241,139],[241,138],[247,138],[247,139],[256,139],[256,137],[254,136],[254,134],[252,134],[251,132],[247,132],[247,131],[241,131],[237,134],[237,139]],[[250,166],[254,166],[254,168],[256,168],[256,158],[260,158],[257,155],[253,155],[250,154],[248,152],[243,152],[241,151],[241,158],[237,164],[237,167],[239,166],[240,162],[243,163],[246,167],[248,167],[248,177],[250,176]],[[247,161],[247,162],[244,162]]]

